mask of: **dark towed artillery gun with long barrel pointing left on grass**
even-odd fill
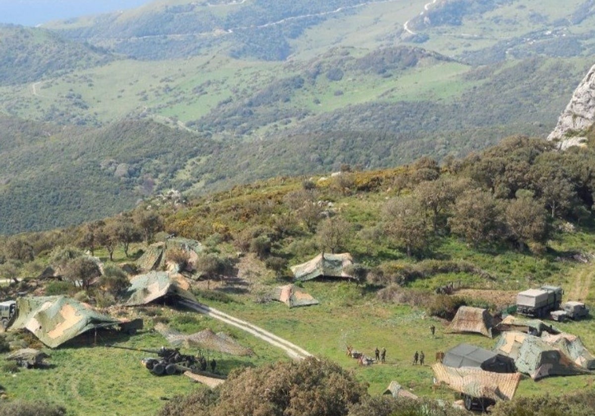
[[[202,355],[195,357],[194,355],[181,354],[179,348],[165,348],[162,346],[159,349],[146,349],[111,344],[105,346],[109,348],[130,349],[131,351],[143,351],[155,354],[156,357],[146,357],[140,361],[143,367],[151,371],[155,376],[171,376],[172,374],[181,374],[185,371],[190,371],[195,374],[221,378],[221,376],[205,371],[205,357]]]

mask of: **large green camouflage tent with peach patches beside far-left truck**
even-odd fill
[[[18,317],[12,327],[28,329],[45,345],[55,348],[90,329],[119,324],[90,305],[65,296],[17,299]]]

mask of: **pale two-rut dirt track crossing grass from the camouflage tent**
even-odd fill
[[[186,300],[180,301],[180,304],[184,305],[187,308],[195,310],[198,313],[205,314],[214,319],[221,320],[222,322],[233,325],[239,329],[245,330],[246,332],[251,333],[252,335],[262,339],[263,341],[266,341],[271,345],[283,349],[287,353],[287,355],[289,355],[289,357],[292,357],[295,360],[302,360],[303,358],[312,355],[305,349],[300,348],[299,346],[287,341],[286,339],[279,338],[277,335],[274,335],[273,333],[270,333],[267,330],[262,329],[261,327],[234,318],[233,316],[230,316],[217,309]]]

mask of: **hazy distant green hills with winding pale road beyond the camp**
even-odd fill
[[[170,186],[199,194],[277,175],[327,174],[342,163],[377,169],[422,155],[440,160],[511,134],[544,136],[593,64],[588,4],[554,6],[156,1],[43,29],[3,27],[0,112],[27,120],[18,143],[39,146],[37,133],[22,133],[31,120],[61,126],[46,128],[52,140],[42,140],[44,151],[57,152],[77,149],[79,140],[96,143],[102,129],[123,120],[150,119],[168,127],[159,130],[168,145],[185,131],[201,146],[217,143],[218,156],[179,152],[170,163],[151,152],[159,174],[139,191],[140,179],[112,181],[97,168],[112,158],[110,144],[68,156],[76,169],[65,166],[62,150],[65,158],[41,158],[27,146],[2,147],[0,187],[10,201],[2,206],[15,215],[14,201],[29,208],[17,215],[27,220],[8,220],[0,232],[108,215],[107,207],[131,207]],[[2,128],[11,141],[12,127]],[[52,133],[61,128],[72,133]],[[145,160],[143,134],[123,132],[130,135],[118,136],[115,149],[126,142],[127,157]],[[82,170],[93,179],[82,180]],[[65,183],[77,185],[71,192]],[[62,191],[40,197],[55,190]]]

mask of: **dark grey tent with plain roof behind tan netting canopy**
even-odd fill
[[[453,368],[475,367],[493,373],[516,371],[512,358],[468,343],[460,343],[444,352],[442,364]]]

